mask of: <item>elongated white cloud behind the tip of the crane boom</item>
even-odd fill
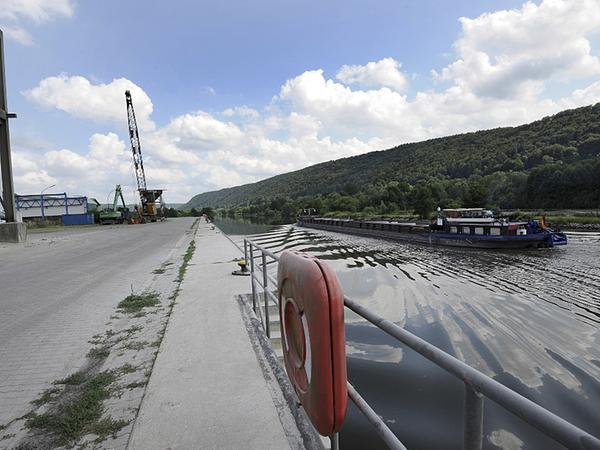
[[[73,117],[126,126],[126,90],[131,91],[138,127],[145,131],[153,130],[150,97],[126,78],[114,79],[107,84],[92,84],[82,76],[61,74],[44,78],[36,87],[23,92],[23,95],[38,105],[60,109]]]

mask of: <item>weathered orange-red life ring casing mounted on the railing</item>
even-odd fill
[[[325,263],[290,251],[277,284],[286,371],[315,429],[331,435],[348,407],[342,289]]]

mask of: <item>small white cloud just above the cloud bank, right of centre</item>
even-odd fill
[[[400,70],[402,64],[393,58],[383,58],[364,66],[344,65],[336,78],[344,84],[357,84],[364,87],[385,86],[398,92],[408,88],[408,79]]]

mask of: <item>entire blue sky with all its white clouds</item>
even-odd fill
[[[0,0],[15,190],[167,203],[600,101],[598,0]]]

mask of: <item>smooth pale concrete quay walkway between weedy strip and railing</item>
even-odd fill
[[[213,225],[199,226],[128,448],[307,447],[242,318],[236,296],[250,279],[231,275],[240,256]]]

